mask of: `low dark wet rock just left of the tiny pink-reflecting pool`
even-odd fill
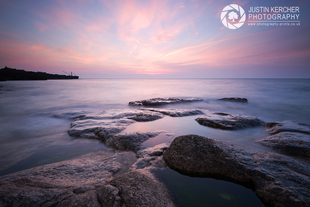
[[[164,131],[153,132],[130,132],[126,134],[117,134],[113,138],[108,139],[105,145],[107,147],[115,148],[118,150],[133,150],[137,152],[141,149],[141,144],[150,139],[156,137],[158,134]]]

